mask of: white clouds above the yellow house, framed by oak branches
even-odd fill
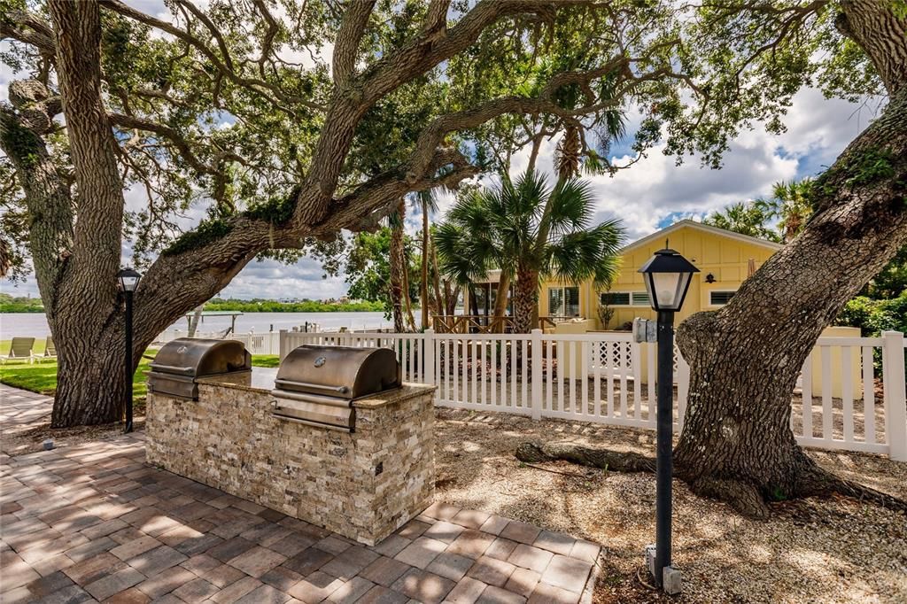
[[[779,180],[792,180],[828,165],[846,144],[865,128],[869,105],[824,99],[810,89],[796,95],[780,136],[762,129],[742,132],[732,142],[721,170],[702,168],[697,158],[676,158],[662,152],[664,145],[614,177],[588,177],[598,201],[598,220],[623,220],[630,241],[658,230],[669,216],[701,217],[729,203],[765,195]],[[859,111],[858,111],[859,110]],[[537,168],[552,174],[557,141],[546,141]],[[628,156],[613,158],[626,164]],[[528,152],[512,161],[512,175],[525,170]]]

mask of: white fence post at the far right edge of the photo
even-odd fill
[[[907,462],[907,378],[904,377],[904,335],[900,331],[882,332],[882,379],[884,382],[885,440],[888,456]]]

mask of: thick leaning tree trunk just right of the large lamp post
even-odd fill
[[[822,490],[790,429],[791,393],[824,327],[907,243],[905,183],[902,90],[817,181],[804,231],[727,307],[679,326],[691,375],[675,463],[694,490],[756,516],[765,499]]]

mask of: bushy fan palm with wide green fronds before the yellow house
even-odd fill
[[[528,333],[541,278],[598,285],[614,278],[623,229],[619,220],[591,226],[593,214],[586,181],[561,179],[551,189],[535,170],[514,181],[502,175],[500,186],[458,201],[438,227],[441,268],[461,283],[500,268],[502,283],[515,281],[514,328]]]

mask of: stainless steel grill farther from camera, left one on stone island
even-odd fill
[[[161,347],[151,362],[148,390],[180,398],[199,398],[198,379],[248,373],[252,356],[236,340],[180,337]]]

